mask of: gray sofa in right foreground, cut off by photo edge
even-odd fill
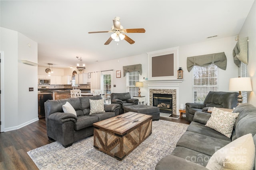
[[[251,104],[240,104],[233,112],[236,118],[231,138],[204,126],[211,114],[196,112],[194,121],[176,144],[172,154],[162,158],[156,170],[207,170],[208,160],[216,148],[222,148],[237,138],[251,133],[256,144],[256,108]],[[256,160],[254,159],[254,170]]]

